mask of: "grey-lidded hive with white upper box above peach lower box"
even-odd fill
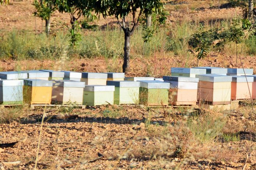
[[[173,105],[196,105],[198,78],[164,76],[164,82],[170,83],[169,97]]]

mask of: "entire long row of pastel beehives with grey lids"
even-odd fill
[[[231,99],[249,99],[249,89],[251,96],[255,98],[255,83],[254,78],[248,76],[246,78],[243,76],[225,76],[228,69],[217,68],[217,67],[200,67],[200,68],[172,68],[171,74],[180,74],[179,77],[175,76],[164,76],[163,80],[170,84],[169,98],[174,105],[195,105],[196,102],[204,101],[207,104],[219,105],[219,104],[230,104]],[[248,72],[249,70],[249,72]],[[245,69],[246,74],[252,74],[252,69]],[[43,81],[40,80],[25,80],[24,83],[24,96],[27,101],[31,104],[44,104],[42,100],[43,95],[46,94],[45,91],[48,89],[47,94],[50,93],[52,89],[52,99],[48,97],[48,101],[52,103],[67,103],[76,102],[77,104],[86,105],[101,105],[101,104],[146,104],[146,105],[167,105],[168,104],[168,90],[167,84],[159,81],[141,81],[133,82],[136,80],[154,80],[154,78],[125,78],[126,80],[132,81],[122,81],[124,80],[124,73],[77,73],[71,71],[51,71],[47,75],[43,75],[42,71],[26,71],[28,72],[26,76],[29,78],[36,79],[67,79],[76,80],[83,82],[73,82],[73,81],[59,81],[59,82],[47,82],[50,84],[50,88],[40,88],[43,87]],[[239,75],[238,73],[241,69],[232,69],[233,73]],[[237,73],[236,73],[236,72]],[[64,74],[63,74],[64,73]],[[191,74],[192,73],[192,74]],[[216,73],[216,74],[205,74],[205,73]],[[15,75],[16,74],[16,75]],[[61,75],[60,75],[61,74]],[[182,75],[181,75],[182,74]],[[188,75],[189,74],[189,75]],[[202,74],[202,75],[200,75]],[[16,76],[16,77],[15,77]],[[0,73],[1,78],[13,79],[13,78],[27,78],[24,74],[19,72],[2,72]],[[187,76],[187,77],[186,77]],[[253,75],[252,75],[253,76]],[[49,78],[50,77],[50,78]],[[189,78],[198,77],[198,78]],[[112,81],[107,81],[112,80]],[[29,83],[28,83],[29,82]],[[41,85],[40,85],[41,84]],[[75,85],[77,84],[77,85]],[[93,86],[93,84],[96,84]],[[99,86],[99,85],[108,86]],[[34,86],[33,86],[34,85]],[[79,86],[80,85],[80,86]],[[85,86],[87,85],[87,86]],[[113,85],[113,86],[111,86]],[[53,88],[51,88],[53,86]],[[78,87],[79,86],[79,87]],[[9,87],[10,89],[10,87]],[[33,89],[33,90],[32,90]],[[74,90],[74,91],[72,91]],[[80,91],[79,91],[80,90]],[[4,90],[5,91],[5,90]],[[7,90],[8,91],[8,90]],[[41,92],[41,93],[40,93]],[[114,93],[112,99],[111,95]],[[81,95],[83,94],[83,95]],[[6,93],[5,96],[11,96]],[[15,96],[15,95],[13,95]],[[33,97],[34,96],[34,97]],[[50,95],[49,95],[50,96]],[[109,97],[109,98],[108,98]],[[79,99],[79,100],[78,100]],[[38,100],[38,101],[37,101]],[[11,103],[13,101],[4,101],[2,103]],[[4,102],[3,102],[4,101]]]

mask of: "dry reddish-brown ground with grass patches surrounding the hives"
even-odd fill
[[[115,18],[100,18],[95,30],[80,29],[81,41],[69,46],[67,14],[54,13],[53,31],[43,32],[32,15],[32,1],[0,7],[0,71],[54,69],[120,72],[124,35]],[[231,1],[171,0],[166,27],[153,25],[143,43],[143,26],[131,37],[127,76],[170,75],[171,67],[196,66],[189,37],[228,29],[242,9]],[[83,18],[82,18],[83,19]],[[128,18],[129,20],[130,18]],[[256,70],[256,37],[238,44],[243,66]],[[200,66],[241,67],[236,44],[214,41]],[[100,106],[79,109],[27,106],[0,109],[0,169],[256,169],[255,115],[249,102],[229,111],[185,107]],[[255,106],[254,106],[255,108]]]

